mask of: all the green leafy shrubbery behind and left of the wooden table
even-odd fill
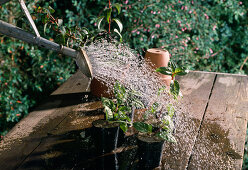
[[[148,48],[169,50],[174,61],[191,70],[248,74],[248,1],[238,0],[112,0],[120,3],[123,41],[144,56]],[[51,5],[68,26],[97,29],[97,17],[108,1],[29,1]],[[17,6],[17,7],[16,7]],[[13,16],[13,14],[15,14]],[[23,17],[17,3],[0,9],[0,19],[17,24]],[[19,19],[20,19],[19,18]],[[21,20],[27,25],[25,19]],[[37,23],[41,23],[39,18]],[[115,25],[112,25],[113,27]],[[39,24],[40,32],[43,25]],[[116,26],[115,26],[116,27]],[[46,38],[53,38],[52,30]],[[17,122],[75,70],[69,57],[38,49],[0,35],[0,131]],[[56,61],[56,62],[55,62]],[[46,90],[45,90],[46,89]],[[10,125],[11,126],[11,125]],[[246,161],[247,162],[247,161]],[[244,167],[248,167],[246,163]]]

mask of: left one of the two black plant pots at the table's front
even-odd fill
[[[116,149],[119,136],[119,123],[109,123],[100,119],[92,122],[93,139],[98,154],[109,153]]]

